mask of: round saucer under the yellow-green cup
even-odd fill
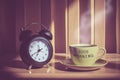
[[[81,66],[81,65],[74,65],[74,63],[72,62],[71,59],[66,59],[66,60],[61,61],[61,64],[65,65],[66,67],[68,67],[70,69],[74,69],[74,70],[97,70],[97,69],[104,67],[107,63],[108,63],[108,61],[106,61],[104,59],[98,59],[95,62],[95,64],[93,64],[91,66]]]

